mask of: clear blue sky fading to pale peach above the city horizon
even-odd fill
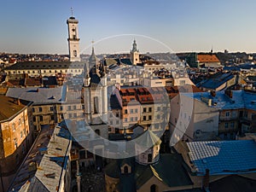
[[[8,0],[1,2],[0,52],[67,54],[74,9],[82,52],[256,52],[255,0]],[[132,34],[121,36],[122,34]],[[139,36],[137,36],[139,35]],[[147,36],[154,38],[158,43]]]

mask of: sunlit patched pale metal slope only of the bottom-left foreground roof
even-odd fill
[[[67,130],[55,127],[37,172],[31,181],[26,182],[21,191],[59,191],[60,181],[67,170],[71,137]]]

